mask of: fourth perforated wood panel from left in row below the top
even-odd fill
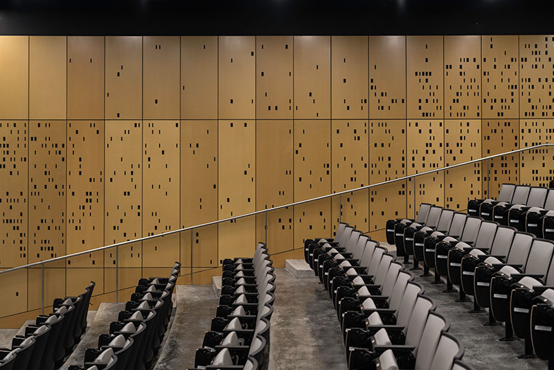
[[[105,131],[104,241],[114,244],[142,236],[142,121],[106,121]],[[141,254],[141,243],[119,247],[118,264],[140,267]],[[116,249],[105,257],[106,265],[114,265]]]

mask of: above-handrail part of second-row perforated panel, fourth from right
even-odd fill
[[[408,121],[407,175],[444,166],[443,124],[441,120]]]

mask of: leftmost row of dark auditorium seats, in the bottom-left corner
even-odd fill
[[[55,299],[53,312],[39,315],[23,335],[12,339],[11,349],[0,349],[0,369],[53,370],[73,352],[87,329],[90,285],[78,297]]]

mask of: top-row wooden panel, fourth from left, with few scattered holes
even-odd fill
[[[106,119],[143,116],[143,38],[106,37]]]

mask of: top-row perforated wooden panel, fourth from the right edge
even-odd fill
[[[443,36],[406,39],[408,118],[443,118]]]

